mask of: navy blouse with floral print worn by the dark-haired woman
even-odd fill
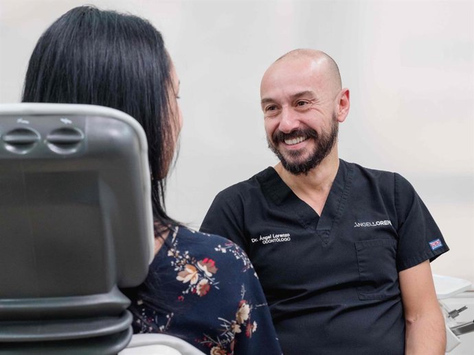
[[[211,355],[282,354],[253,266],[225,238],[177,228],[130,291],[135,333],[178,336]]]

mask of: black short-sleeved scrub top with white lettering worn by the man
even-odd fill
[[[404,354],[398,272],[449,250],[407,180],[343,160],[321,217],[269,167],[221,191],[201,231],[247,252],[286,355]]]

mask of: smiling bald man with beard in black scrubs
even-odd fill
[[[444,354],[429,262],[449,248],[407,180],[339,159],[335,61],[286,53],[260,95],[280,162],[219,193],[201,231],[245,249],[284,354]]]

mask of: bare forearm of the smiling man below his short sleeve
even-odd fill
[[[398,278],[405,313],[405,354],[444,354],[444,317],[436,298],[429,260],[400,271]]]

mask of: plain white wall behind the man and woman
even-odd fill
[[[322,49],[351,89],[341,158],[405,175],[451,247],[433,270],[474,282],[471,1],[0,0],[0,102],[19,101],[46,27],[88,2],[149,19],[174,58],[185,125],[172,216],[198,228],[218,191],[275,163],[260,78],[286,51]]]

